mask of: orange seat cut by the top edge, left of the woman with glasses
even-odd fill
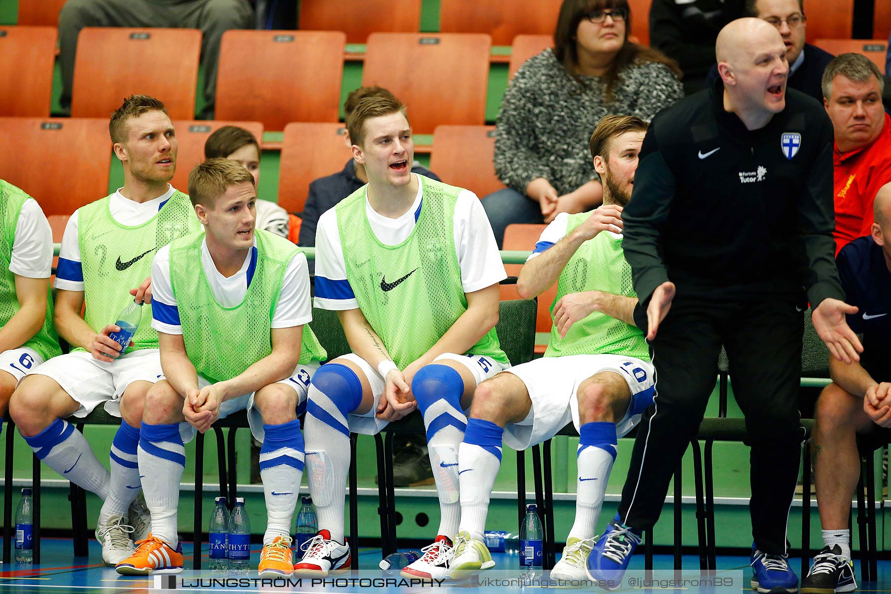
[[[553,34],[560,0],[439,0],[443,33],[488,33],[493,45],[511,45],[521,33]]]

